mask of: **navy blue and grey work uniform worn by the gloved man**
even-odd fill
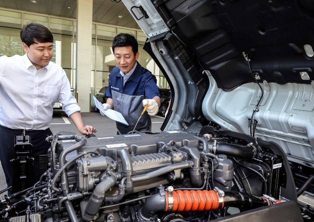
[[[127,134],[133,130],[139,132],[152,130],[151,116],[145,112],[141,117],[144,109],[142,101],[143,99],[153,99],[155,96],[160,97],[157,79],[149,70],[143,68],[140,63],[137,62],[133,74],[124,85],[119,67],[115,67],[112,70],[105,97],[112,98],[113,109],[120,112],[129,124],[127,126],[116,122],[120,134]],[[136,129],[134,128],[135,126]]]

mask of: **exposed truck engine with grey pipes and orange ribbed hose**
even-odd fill
[[[1,199],[1,221],[303,220],[275,143],[211,126],[199,134],[62,132],[46,140],[48,170],[33,187]]]

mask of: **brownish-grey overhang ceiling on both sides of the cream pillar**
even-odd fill
[[[0,0],[0,7],[76,19],[77,0]],[[140,29],[122,1],[93,1],[93,22]],[[117,0],[118,1],[118,0]],[[118,15],[122,15],[120,18]]]

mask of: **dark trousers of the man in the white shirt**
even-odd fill
[[[0,161],[5,175],[7,187],[12,186],[12,163],[10,160],[14,159],[14,138],[21,136],[23,130],[13,130],[0,126]],[[52,132],[48,128],[46,130],[26,131],[26,135],[30,136],[30,143],[32,144],[32,152],[30,157],[34,158],[32,166],[32,182],[35,184],[39,181],[39,155],[47,155],[50,143],[46,142],[47,136],[51,136]]]

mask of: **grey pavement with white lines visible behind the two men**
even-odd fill
[[[81,113],[83,122],[85,125],[91,125],[97,129],[95,136],[110,136],[117,134],[116,122],[109,119],[106,116],[102,116],[100,113]],[[152,117],[152,132],[159,132],[163,123],[164,117],[157,114]],[[55,135],[59,132],[71,132],[79,134],[79,131],[73,124],[72,120],[66,116],[63,112],[55,113],[52,118],[50,126],[52,133]],[[0,191],[6,188],[5,177],[0,165]],[[0,199],[6,194],[6,192],[0,194]]]

